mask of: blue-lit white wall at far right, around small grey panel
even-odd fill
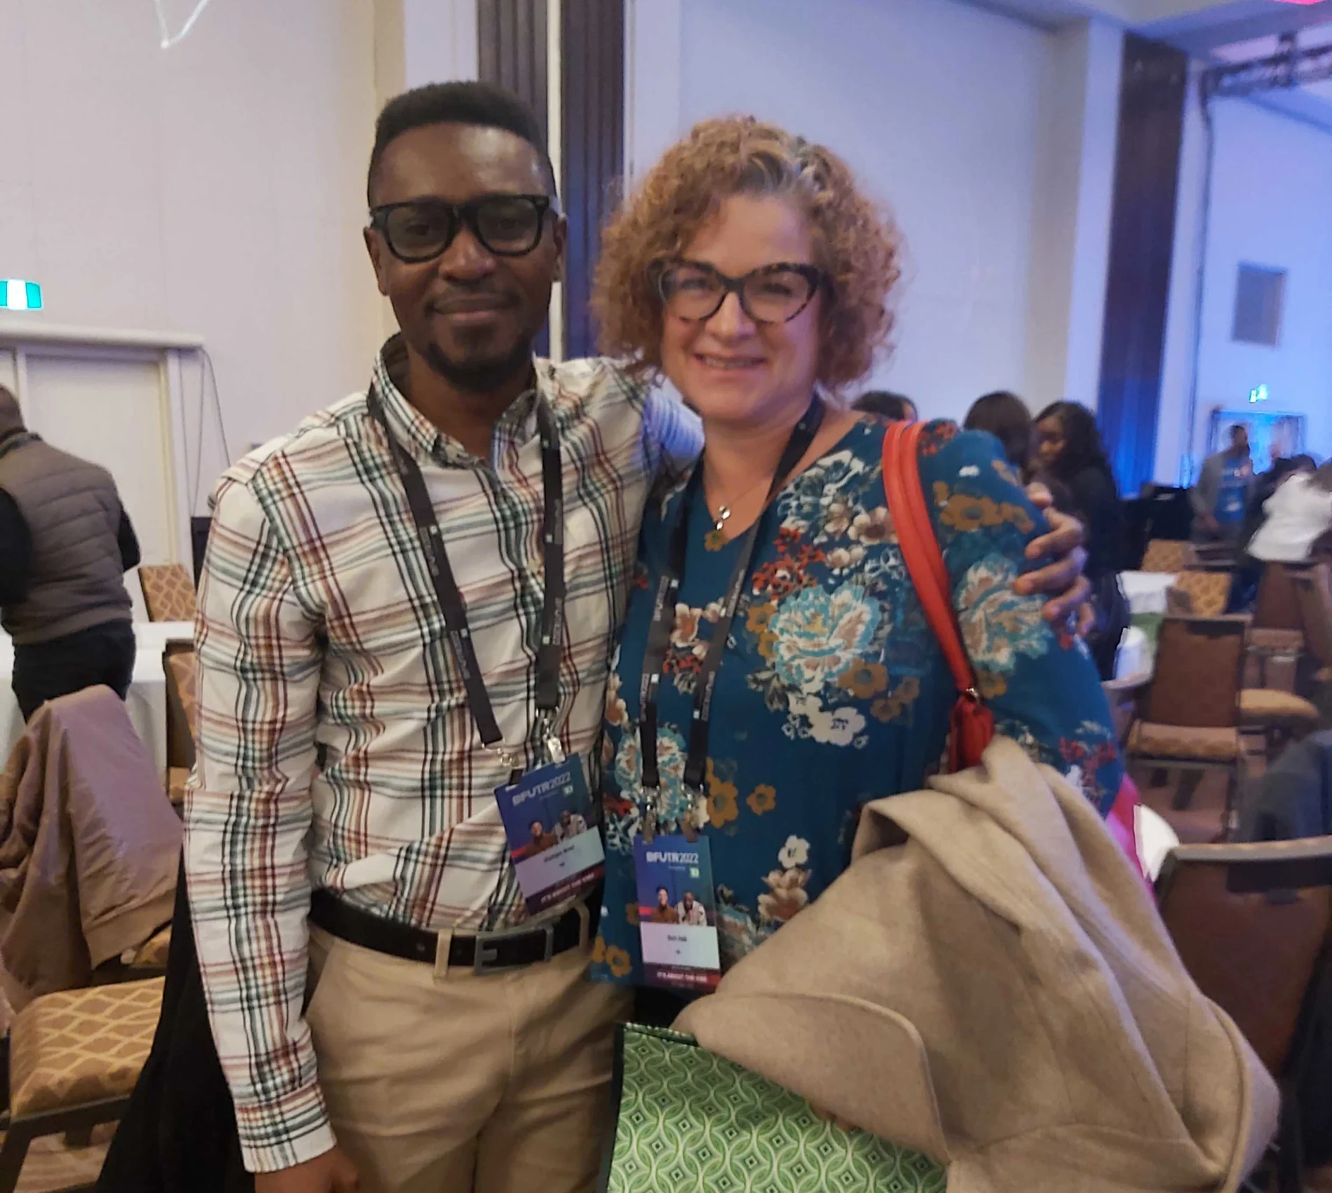
[[[1179,232],[1167,325],[1156,477],[1176,481],[1185,450],[1203,450],[1215,406],[1241,406],[1267,385],[1261,409],[1304,414],[1307,446],[1332,454],[1332,133],[1245,100],[1212,104],[1216,130],[1205,246],[1197,417],[1187,426],[1204,126],[1185,120]],[[1287,269],[1276,348],[1231,340],[1240,262]],[[1261,462],[1260,462],[1261,463]]]

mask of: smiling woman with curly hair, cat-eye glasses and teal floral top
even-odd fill
[[[607,688],[595,980],[642,981],[633,843],[645,823],[706,839],[725,968],[844,869],[867,800],[918,788],[943,752],[956,694],[886,509],[887,422],[840,398],[887,336],[896,278],[896,238],[847,168],[751,119],[698,125],[606,230],[605,346],[665,373],[706,446],[693,477],[649,503]],[[1095,671],[1015,591],[1039,514],[988,437],[934,423],[920,467],[1000,731],[1108,807],[1120,768]],[[646,708],[645,671],[661,674]],[[642,732],[654,711],[657,732]],[[670,1021],[679,999],[666,993],[639,1016]]]

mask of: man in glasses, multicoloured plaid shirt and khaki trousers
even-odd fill
[[[308,419],[214,494],[186,869],[257,1193],[597,1176],[629,1007],[583,977],[599,900],[519,923],[493,792],[550,738],[594,748],[649,486],[699,433],[609,361],[533,359],[566,237],[542,145],[484,84],[385,108],[365,242],[401,334],[374,401]],[[567,581],[549,640],[547,510]]]

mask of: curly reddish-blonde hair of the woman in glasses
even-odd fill
[[[735,194],[790,197],[805,210],[815,264],[831,280],[818,381],[840,397],[868,371],[892,330],[886,300],[900,273],[898,232],[835,153],[753,116],[694,125],[606,225],[591,293],[602,350],[627,358],[638,375],[659,371],[657,268],[678,260]]]

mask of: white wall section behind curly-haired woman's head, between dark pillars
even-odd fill
[[[727,112],[830,145],[907,241],[896,349],[867,386],[955,417],[998,387],[1044,397],[1030,389],[1028,300],[1051,35],[955,0],[638,0],[637,9],[634,173],[695,120]]]

